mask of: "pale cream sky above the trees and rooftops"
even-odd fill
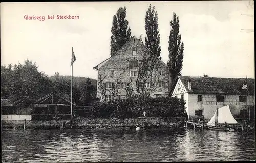
[[[183,76],[254,78],[253,1],[1,3],[1,65],[29,59],[49,76],[71,75],[73,47],[73,76],[97,79],[93,67],[110,57],[112,21],[119,7],[127,8],[132,36],[144,38],[150,4],[158,12],[165,63],[173,12],[179,16]],[[26,15],[45,20],[26,20]],[[60,20],[57,15],[79,19]]]

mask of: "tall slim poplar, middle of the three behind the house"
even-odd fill
[[[159,46],[160,34],[158,29],[158,14],[157,11],[155,11],[155,6],[153,6],[153,8],[151,7],[151,5],[148,7],[145,16],[145,30],[146,47],[150,49],[154,53],[154,55],[159,57],[161,53],[161,46]]]

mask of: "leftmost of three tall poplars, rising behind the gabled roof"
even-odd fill
[[[113,16],[110,38],[110,55],[113,56],[116,51],[131,38],[131,29],[128,27],[129,22],[125,19],[126,7],[120,7]]]

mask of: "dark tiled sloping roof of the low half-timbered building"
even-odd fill
[[[246,95],[247,91],[241,90],[245,78],[220,78],[220,77],[191,77],[179,76],[188,93],[195,94],[240,94]],[[191,80],[191,89],[188,89],[188,80]],[[249,95],[254,95],[255,79],[247,78]]]

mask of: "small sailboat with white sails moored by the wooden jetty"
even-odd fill
[[[210,130],[219,130],[219,131],[229,131],[231,126],[221,126],[221,124],[237,124],[238,122],[234,119],[232,113],[230,112],[229,106],[223,106],[217,108],[214,116],[207,123],[207,127]]]

